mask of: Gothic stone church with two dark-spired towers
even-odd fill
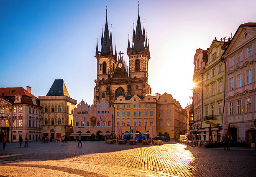
[[[104,35],[101,35],[101,47],[98,50],[96,45],[95,57],[97,59],[97,79],[95,80],[94,100],[96,105],[100,100],[105,100],[110,105],[120,95],[123,97],[131,95],[151,94],[151,87],[148,85],[148,61],[150,59],[149,45],[145,35],[145,28],[141,28],[140,15],[136,30],[133,25],[132,47],[128,38],[127,55],[128,65],[120,51],[117,56],[113,52],[112,30],[108,30],[106,16]]]

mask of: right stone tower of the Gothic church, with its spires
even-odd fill
[[[131,78],[134,82],[132,87],[135,87],[136,90],[141,90],[139,95],[151,94],[151,88],[148,85],[148,60],[150,59],[150,52],[147,36],[145,35],[145,25],[143,25],[143,31],[141,30],[139,5],[136,32],[133,24],[132,43],[133,45],[130,47],[130,39],[128,39],[127,55],[129,57]],[[142,83],[141,88],[136,82]]]

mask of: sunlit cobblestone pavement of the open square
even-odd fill
[[[256,150],[187,147],[166,142],[152,145],[106,145],[100,141],[7,143],[0,149],[0,175],[10,176],[141,176],[252,177]],[[189,170],[192,168],[192,170]],[[46,170],[47,169],[47,170]],[[32,172],[31,172],[32,171]]]

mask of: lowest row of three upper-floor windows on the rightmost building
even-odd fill
[[[248,112],[251,112],[251,97],[248,97],[245,99],[246,101],[246,108],[245,108],[245,112],[248,113]],[[233,102],[229,102],[228,103],[228,115],[233,115],[233,112],[234,112],[234,103]],[[237,100],[236,101],[236,114],[242,114],[242,100]]]

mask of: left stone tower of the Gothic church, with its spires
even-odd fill
[[[110,78],[113,75],[115,64],[117,63],[116,46],[115,54],[113,54],[112,27],[110,29],[110,35],[108,30],[107,9],[104,35],[102,31],[100,43],[101,48],[99,51],[97,39],[95,52],[95,57],[97,59],[97,80],[95,80],[94,104],[99,102],[99,100],[102,100],[102,98],[110,102]]]

